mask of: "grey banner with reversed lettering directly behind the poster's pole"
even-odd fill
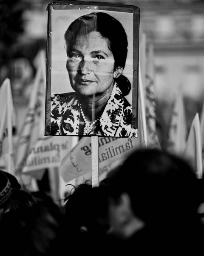
[[[125,157],[140,147],[139,138],[99,137],[99,175],[109,172],[123,162]],[[115,164],[116,163],[116,164]],[[65,182],[91,173],[91,138],[82,138],[62,159],[60,174]]]

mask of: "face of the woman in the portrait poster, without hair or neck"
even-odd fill
[[[114,58],[99,32],[78,35],[70,48],[67,70],[71,87],[83,96],[112,92]]]

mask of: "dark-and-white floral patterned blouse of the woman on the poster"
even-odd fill
[[[76,93],[51,96],[51,135],[83,135],[80,127],[83,119],[76,96]],[[131,127],[131,121],[132,106],[115,84],[101,117],[88,136],[136,138],[137,129]]]

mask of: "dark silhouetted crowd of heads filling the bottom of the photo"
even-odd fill
[[[140,149],[99,187],[89,181],[73,186],[59,206],[0,171],[0,250],[22,256],[197,255],[204,240],[202,183],[180,157]]]

